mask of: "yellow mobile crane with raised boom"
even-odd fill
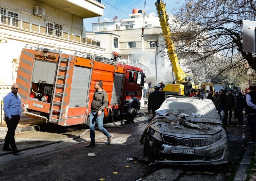
[[[168,95],[188,96],[192,88],[197,89],[198,85],[193,75],[186,74],[180,67],[175,47],[172,43],[171,30],[168,23],[168,15],[166,13],[165,4],[162,0],[156,1],[156,9],[163,30],[163,37],[168,51],[169,59],[172,62],[172,71],[175,79],[172,84],[167,84],[164,91]]]

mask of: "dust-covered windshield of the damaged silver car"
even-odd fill
[[[189,117],[218,118],[218,113],[211,100],[172,97],[167,98],[157,112],[168,112],[169,115],[188,114]]]

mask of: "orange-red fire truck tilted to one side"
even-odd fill
[[[133,120],[144,78],[142,69],[101,56],[34,47],[22,50],[16,83],[28,117],[70,126],[88,124],[97,80],[103,82],[112,109],[105,109],[104,122],[112,115],[115,120]]]

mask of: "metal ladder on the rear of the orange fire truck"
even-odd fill
[[[61,119],[61,116],[62,116],[62,106],[63,106],[63,102],[64,102],[64,94],[65,94],[65,89],[66,89],[66,84],[67,84],[67,76],[68,76],[68,68],[69,68],[69,63],[71,62],[71,54],[69,54],[69,57],[61,57],[61,53],[60,53],[60,59],[59,59],[59,62],[58,62],[58,69],[57,69],[57,76],[56,76],[56,79],[55,79],[55,86],[54,86],[54,90],[53,90],[53,94],[52,94],[52,106],[51,106],[51,111],[50,111],[50,115],[49,115],[49,122],[58,122],[58,124],[60,124],[60,119]],[[60,63],[61,62],[68,62],[68,65],[67,67],[66,66],[60,66]],[[65,75],[60,75],[60,69],[66,69],[66,74]],[[61,84],[61,83],[58,83],[58,80],[63,80],[65,79],[65,83],[64,84]],[[57,86],[62,86],[62,89],[63,89],[63,92],[56,92],[56,87]],[[64,86],[64,87],[63,87]],[[58,95],[58,97],[60,98],[61,97],[61,101],[57,101],[55,100],[55,97],[56,97],[56,94]],[[59,110],[56,110],[56,109],[53,109],[53,106],[54,104],[60,104],[58,106],[60,106],[60,109]],[[58,115],[55,115],[55,117],[59,117],[59,119],[56,119],[56,118],[53,118],[52,116],[52,113],[53,112],[59,112]]]

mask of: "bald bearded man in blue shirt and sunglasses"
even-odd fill
[[[20,152],[20,149],[17,149],[15,144],[15,129],[20,121],[21,115],[21,98],[18,94],[19,85],[12,85],[12,92],[7,94],[4,97],[4,113],[5,113],[5,122],[8,128],[7,134],[4,139],[4,147],[5,151],[12,151],[12,154],[16,154]],[[10,148],[9,145],[12,147]]]

